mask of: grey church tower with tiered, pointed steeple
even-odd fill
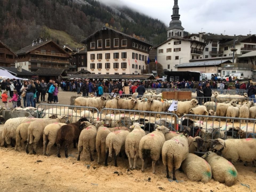
[[[174,36],[184,36],[184,28],[181,26],[179,9],[180,8],[178,6],[178,0],[174,0],[174,6],[172,8],[172,20],[170,22],[170,26],[167,29],[167,39],[172,38]]]

